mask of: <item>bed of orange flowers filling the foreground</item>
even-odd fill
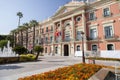
[[[94,64],[76,64],[18,80],[88,80],[101,68],[102,66]]]

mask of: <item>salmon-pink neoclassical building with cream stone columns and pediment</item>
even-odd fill
[[[120,1],[73,0],[39,22],[35,27],[35,42],[32,33],[31,28],[28,50],[35,43],[42,45],[47,54],[72,56],[82,50],[82,38],[85,51],[120,50]]]

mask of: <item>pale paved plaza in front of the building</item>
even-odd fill
[[[0,80],[17,80],[20,77],[43,73],[59,67],[81,63],[81,57],[40,56],[37,62],[22,62],[0,65]],[[86,60],[88,63],[88,60]],[[114,66],[112,61],[96,61],[96,64]]]

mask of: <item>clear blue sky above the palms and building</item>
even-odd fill
[[[18,25],[17,12],[22,12],[21,25],[38,22],[55,14],[59,6],[71,0],[0,0],[0,35],[7,35]]]

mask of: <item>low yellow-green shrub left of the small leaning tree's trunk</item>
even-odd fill
[[[25,62],[25,61],[34,61],[35,55],[33,54],[21,54],[19,61]]]

